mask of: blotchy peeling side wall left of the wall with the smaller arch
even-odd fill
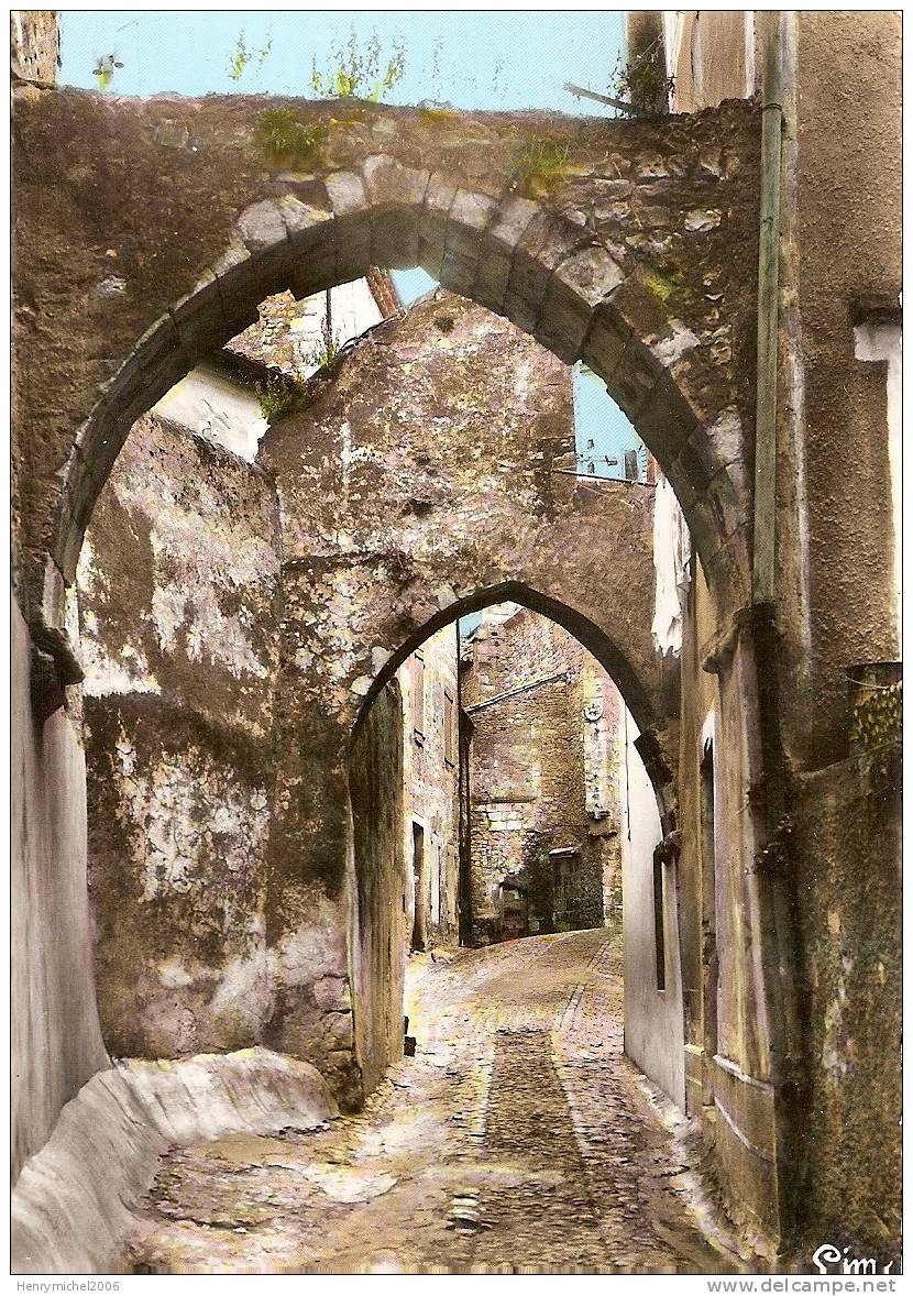
[[[264,474],[142,419],[79,569],[96,980],[118,1056],[245,1047],[271,1017],[277,581]]]

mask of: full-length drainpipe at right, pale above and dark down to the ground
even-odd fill
[[[780,636],[776,618],[777,359],[780,338],[781,172],[783,165],[783,16],[763,16],[760,236],[758,249],[758,389],[755,516],[751,581],[761,787],[756,871],[763,905],[771,1008],[781,1247],[795,1240],[804,1195],[808,1086],[800,988],[804,959],[789,846],[787,771],[780,732]]]

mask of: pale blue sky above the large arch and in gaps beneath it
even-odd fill
[[[346,44],[352,29],[360,48],[377,35],[383,62],[403,43],[404,75],[385,95],[387,102],[614,115],[562,87],[570,80],[611,91],[624,44],[622,10],[62,10],[58,80],[98,89],[93,69],[114,56],[123,67],[114,70],[110,95],[311,96],[312,64],[326,71],[333,49]],[[253,57],[232,80],[240,36]],[[434,286],[420,268],[395,271],[394,280],[407,305]],[[589,472],[593,459],[596,476],[624,476],[624,451],[640,447],[637,434],[605,386],[580,369],[574,406],[580,470]],[[618,463],[606,464],[606,457]]]

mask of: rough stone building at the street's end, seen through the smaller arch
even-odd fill
[[[561,626],[508,604],[464,649],[475,943],[620,916],[624,704]]]

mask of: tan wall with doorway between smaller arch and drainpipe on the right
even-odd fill
[[[781,1042],[786,1026],[782,982],[768,982],[765,991],[758,967],[758,933],[771,916],[752,818],[761,765],[751,719],[756,677],[745,635],[707,662],[714,613],[697,559],[692,569],[681,649],[680,836],[663,863],[679,905],[685,1102],[714,1146],[730,1213],[764,1249],[782,1240],[771,1042]],[[701,772],[708,744],[712,797]]]

